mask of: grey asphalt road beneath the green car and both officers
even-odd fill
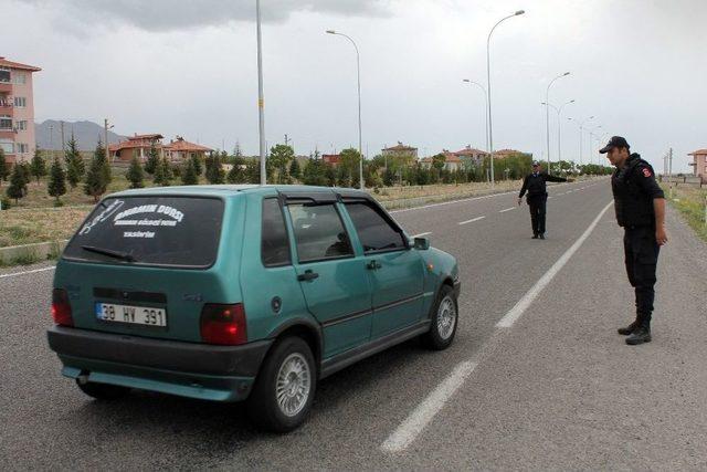
[[[707,248],[668,211],[654,340],[626,346],[608,180],[550,195],[545,241],[515,193],[394,212],[458,259],[454,345],[407,343],[324,380],[308,422],[282,437],[239,405],[89,400],[46,346],[53,271],[4,270],[0,468],[705,470]]]

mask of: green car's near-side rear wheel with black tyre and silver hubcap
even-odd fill
[[[260,429],[278,433],[296,429],[312,409],[316,386],[317,368],[309,345],[299,337],[278,340],[249,396],[251,421]]]

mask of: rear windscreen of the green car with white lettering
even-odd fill
[[[219,249],[223,201],[126,197],[102,201],[64,250],[70,260],[207,268]]]

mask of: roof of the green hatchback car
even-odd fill
[[[350,198],[370,199],[370,195],[362,190],[339,187],[318,186],[287,186],[287,185],[203,185],[203,186],[176,186],[176,187],[149,187],[141,189],[123,190],[110,193],[106,197],[137,197],[137,196],[159,196],[159,195],[184,195],[184,196],[211,196],[225,197],[238,193],[272,193],[275,190],[284,196],[305,195],[328,195],[331,197],[341,196]]]

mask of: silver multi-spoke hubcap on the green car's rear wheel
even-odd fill
[[[275,395],[281,411],[294,417],[307,405],[312,387],[312,375],[307,360],[299,353],[287,356],[279,366]]]

